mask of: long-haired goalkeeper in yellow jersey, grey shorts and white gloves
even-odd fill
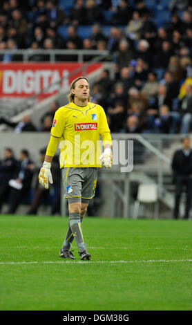
[[[73,80],[68,95],[69,103],[55,113],[44,165],[39,173],[39,183],[48,188],[48,183],[52,183],[51,161],[59,143],[64,198],[68,199],[69,211],[68,230],[59,252],[59,256],[64,259],[75,259],[70,251],[70,244],[75,239],[80,259],[90,260],[81,223],[88,203],[95,195],[97,167],[112,166],[112,140],[106,114],[102,106],[90,100],[87,78],[78,77]],[[104,145],[102,155],[98,145],[99,136]]]

